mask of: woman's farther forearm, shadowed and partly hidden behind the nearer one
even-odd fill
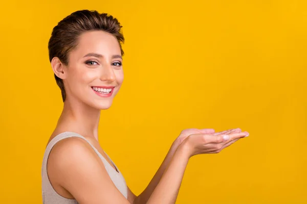
[[[159,184],[161,177],[168,166],[169,162],[171,161],[174,152],[176,152],[177,147],[179,146],[178,141],[174,141],[171,145],[170,149],[168,150],[167,155],[165,156],[162,164],[160,165],[159,169],[157,170],[156,174],[152,177],[151,181],[149,182],[146,189],[135,198],[134,204],[145,204],[149,199],[150,195],[152,194],[153,190],[155,190],[156,186]]]

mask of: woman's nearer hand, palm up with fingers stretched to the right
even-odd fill
[[[242,133],[239,129],[223,131],[221,133],[192,134],[180,146],[184,146],[188,150],[189,157],[199,154],[218,153],[240,138],[248,135],[248,132]]]

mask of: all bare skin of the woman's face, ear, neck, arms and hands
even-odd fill
[[[100,110],[111,107],[124,79],[117,39],[103,31],[85,32],[69,54],[68,65],[57,57],[51,65],[64,82],[67,99],[49,142],[62,132],[78,133],[113,166],[98,142],[98,124]],[[93,86],[115,88],[111,97],[100,97],[92,90]],[[56,143],[50,152],[47,172],[59,195],[76,199],[80,204],[175,203],[189,158],[215,154],[246,136],[248,133],[240,129],[218,133],[213,129],[183,130],[146,189],[136,196],[128,188],[127,199],[113,184],[94,149],[81,138],[66,138]]]

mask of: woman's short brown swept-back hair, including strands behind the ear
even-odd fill
[[[77,46],[78,37],[86,31],[104,31],[112,34],[119,42],[121,55],[124,55],[122,44],[124,36],[121,24],[112,15],[98,13],[97,11],[80,10],[62,19],[53,28],[48,43],[49,60],[58,57],[64,64],[68,65],[68,56],[72,49]],[[63,80],[54,74],[57,85],[61,89],[63,102],[66,99]]]

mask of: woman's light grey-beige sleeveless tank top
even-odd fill
[[[89,141],[87,141],[83,136],[77,133],[73,133],[73,132],[64,132],[64,133],[57,135],[49,142],[49,144],[46,147],[45,154],[43,156],[42,167],[41,167],[42,202],[44,204],[77,204],[78,203],[77,200],[75,199],[64,198],[63,196],[59,195],[52,187],[49,181],[49,178],[48,178],[48,174],[47,174],[47,160],[48,160],[52,147],[58,141],[64,138],[69,138],[69,137],[82,138],[92,146],[96,154],[99,156],[99,158],[103,162],[104,167],[108,175],[111,177],[111,180],[113,181],[114,185],[123,194],[123,196],[127,198],[127,185],[126,185],[125,179],[123,175],[121,174],[121,172],[118,170],[117,166],[113,163],[113,161],[107,156],[111,160],[113,165],[116,167],[117,171],[106,161],[106,159],[100,154],[100,152]]]

